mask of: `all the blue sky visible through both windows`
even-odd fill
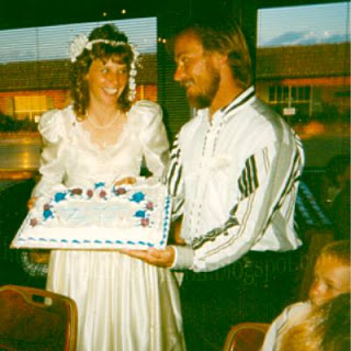
[[[0,64],[68,58],[72,37],[79,33],[89,34],[103,23],[106,22],[2,30]],[[115,23],[140,53],[156,53],[156,18],[118,20]],[[258,46],[350,42],[349,25],[349,2],[262,9],[258,14]]]

